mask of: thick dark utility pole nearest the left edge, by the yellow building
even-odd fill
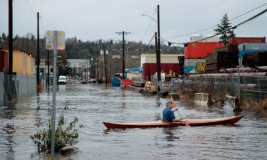
[[[13,8],[9,0],[9,75],[13,73]]]

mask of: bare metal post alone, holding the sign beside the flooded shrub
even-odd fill
[[[51,160],[54,160],[55,154],[55,127],[56,127],[56,85],[57,85],[57,46],[58,44],[58,31],[53,33],[53,102],[52,102],[52,114],[51,114]]]

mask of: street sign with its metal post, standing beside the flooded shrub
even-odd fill
[[[55,154],[56,128],[56,85],[57,85],[57,50],[65,49],[65,33],[63,31],[46,31],[46,49],[53,50],[53,100],[51,114],[51,160]]]

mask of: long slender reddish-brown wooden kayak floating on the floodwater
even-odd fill
[[[209,125],[219,125],[219,124],[235,124],[244,117],[244,115],[239,115],[236,117],[227,117],[220,119],[182,119],[182,122],[142,122],[142,123],[108,123],[103,122],[105,127],[108,129],[125,129],[125,128],[148,128],[148,127],[177,127],[184,126],[187,122],[191,127],[194,126],[209,126]]]

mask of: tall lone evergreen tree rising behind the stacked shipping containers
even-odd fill
[[[229,22],[227,14],[224,14],[223,18],[221,19],[221,24],[218,24],[214,31],[216,31],[216,33],[221,33],[220,40],[225,44],[228,44],[228,39],[230,37],[235,36],[234,30],[230,28],[231,23]]]

